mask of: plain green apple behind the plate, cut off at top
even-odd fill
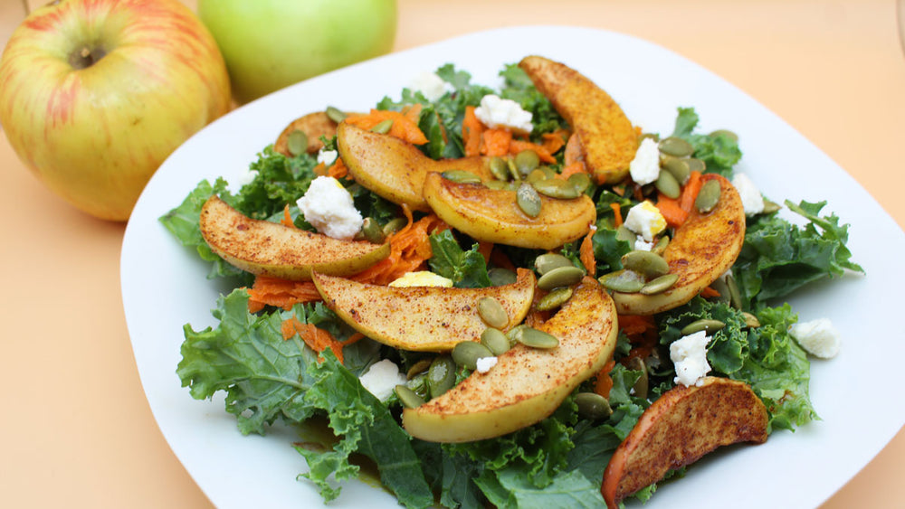
[[[395,0],[198,0],[244,103],[393,48]]]

